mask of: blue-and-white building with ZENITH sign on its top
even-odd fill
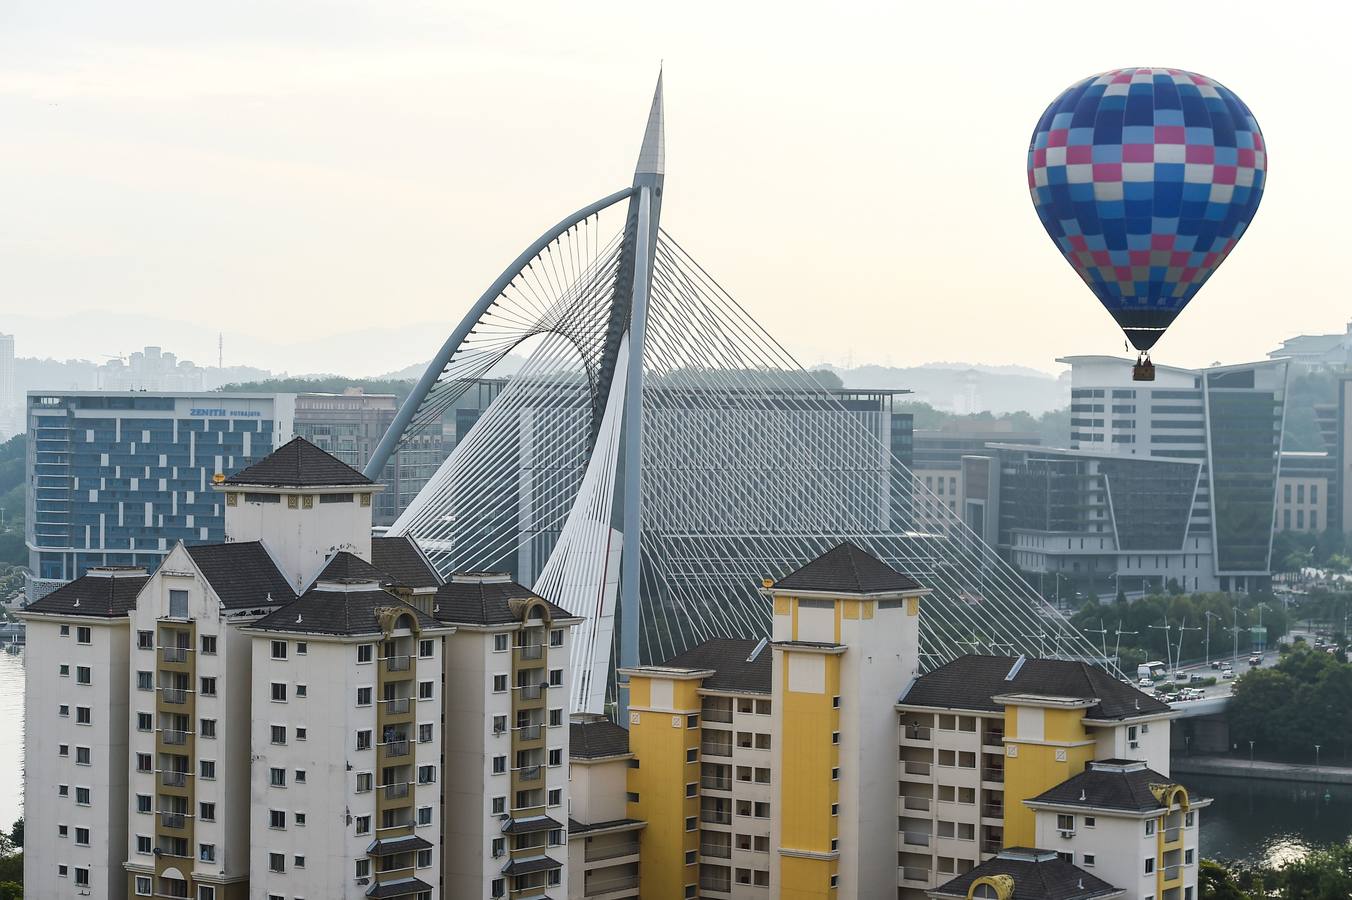
[[[288,395],[30,392],[28,600],[91,568],[220,541],[218,473],[289,438]]]

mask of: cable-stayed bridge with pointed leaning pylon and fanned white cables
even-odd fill
[[[761,580],[853,541],[933,591],[927,665],[1101,659],[661,226],[657,81],[633,184],[549,228],[473,304],[373,454],[525,359],[393,524],[443,573],[510,570],[584,615],[573,707],[614,670],[765,636]],[[791,264],[791,261],[790,261]],[[923,524],[923,527],[921,527]]]

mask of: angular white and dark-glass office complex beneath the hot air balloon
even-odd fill
[[[964,459],[964,518],[1034,582],[1080,599],[1270,582],[1286,364],[1188,370],[1069,357],[1071,447]],[[983,489],[977,489],[983,488]]]

